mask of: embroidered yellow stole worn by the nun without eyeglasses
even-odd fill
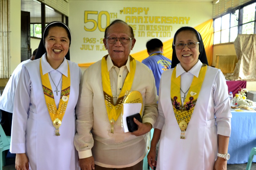
[[[64,61],[63,61],[64,62]],[[61,88],[61,95],[60,95],[60,103],[57,110],[54,96],[52,92],[52,86],[49,80],[48,74],[43,75],[41,59],[40,59],[40,74],[42,80],[42,86],[44,91],[44,99],[46,102],[46,106],[48,108],[49,115],[51,116],[53,126],[55,127],[55,135],[60,136],[59,127],[61,125],[62,118],[65,114],[69,93],[70,93],[70,70],[68,65],[68,77],[62,74],[62,88]]]

